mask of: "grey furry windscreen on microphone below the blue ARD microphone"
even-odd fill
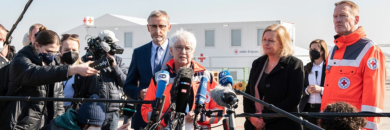
[[[234,93],[234,91],[231,88],[224,87],[224,86],[216,86],[213,90],[210,90],[210,96],[211,99],[213,99],[217,105],[225,107],[226,103],[225,100],[223,99],[223,95],[229,92]]]

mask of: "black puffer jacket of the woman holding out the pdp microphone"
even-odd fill
[[[43,66],[33,46],[23,47],[10,65],[7,96],[63,98],[59,82],[68,79],[69,65],[58,65],[54,60]],[[11,101],[0,116],[0,130],[36,130],[64,112],[64,102]]]

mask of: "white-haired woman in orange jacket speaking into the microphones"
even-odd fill
[[[192,60],[194,53],[195,53],[195,47],[196,47],[195,35],[189,31],[186,31],[184,29],[180,29],[180,30],[177,30],[172,35],[172,38],[170,40],[172,40],[172,42],[169,42],[169,44],[170,44],[169,49],[170,49],[170,52],[173,56],[173,59],[169,60],[166,64],[168,67],[166,69],[166,71],[168,71],[170,78],[171,79],[175,78],[177,76],[177,72],[179,71],[179,69],[181,67],[191,68],[191,69],[193,69],[193,71],[195,73],[193,75],[193,79],[192,79],[192,87],[191,87],[191,91],[190,91],[190,97],[188,98],[188,105],[190,108],[189,109],[190,112],[188,112],[188,114],[185,117],[186,122],[192,123],[194,121],[195,113],[193,110],[195,109],[195,104],[194,104],[195,103],[195,95],[197,93],[200,79],[202,77],[207,77],[207,79],[208,79],[207,92],[206,92],[207,94],[206,94],[206,101],[205,101],[206,110],[210,110],[210,109],[211,110],[224,110],[223,107],[217,106],[217,104],[211,99],[211,97],[209,95],[209,93],[210,93],[209,90],[212,90],[213,88],[215,88],[215,86],[217,85],[217,82],[215,81],[215,79],[213,78],[213,76],[211,75],[211,73],[209,71],[207,71],[199,63]],[[156,76],[156,74],[160,74],[160,73],[161,73],[161,71],[155,73],[154,76]],[[156,82],[156,79],[154,78],[154,76],[151,79],[151,83],[149,85],[149,88],[147,90],[147,93],[145,95],[144,100],[154,100],[156,98],[157,82]],[[166,95],[165,99],[170,99],[169,90],[172,88],[172,83],[173,83],[173,80],[169,80],[168,85],[165,88],[165,91],[163,93],[164,95]],[[164,108],[163,108],[162,112],[167,111],[170,103],[171,103],[170,100],[165,100],[165,104],[164,104]],[[150,119],[147,118],[148,117],[147,115],[149,113],[151,113],[151,110],[148,108],[151,108],[151,104],[144,104],[144,106],[141,107],[141,114],[142,114],[142,117],[144,118],[145,122],[150,121]],[[198,116],[197,123],[202,128],[209,128],[211,126],[210,124],[218,123],[218,121],[220,119],[221,118],[209,118],[209,117],[202,118],[202,116]],[[164,120],[162,121],[162,124],[164,127],[166,126]]]

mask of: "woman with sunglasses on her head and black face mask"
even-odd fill
[[[77,34],[62,34],[60,46],[60,63],[64,65],[80,65],[84,63],[79,57],[80,41]],[[81,76],[75,74],[63,82],[65,98],[89,98],[93,94],[99,95],[99,81],[96,75]],[[77,111],[82,102],[65,102],[65,110]]]

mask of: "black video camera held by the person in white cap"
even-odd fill
[[[101,70],[106,67],[109,67],[114,62],[112,58],[108,57],[108,54],[122,54],[123,48],[116,45],[115,43],[111,43],[111,37],[91,37],[88,39],[88,46],[84,49],[87,50],[87,55],[92,56],[94,59],[94,63],[91,63],[89,66],[96,69]]]

